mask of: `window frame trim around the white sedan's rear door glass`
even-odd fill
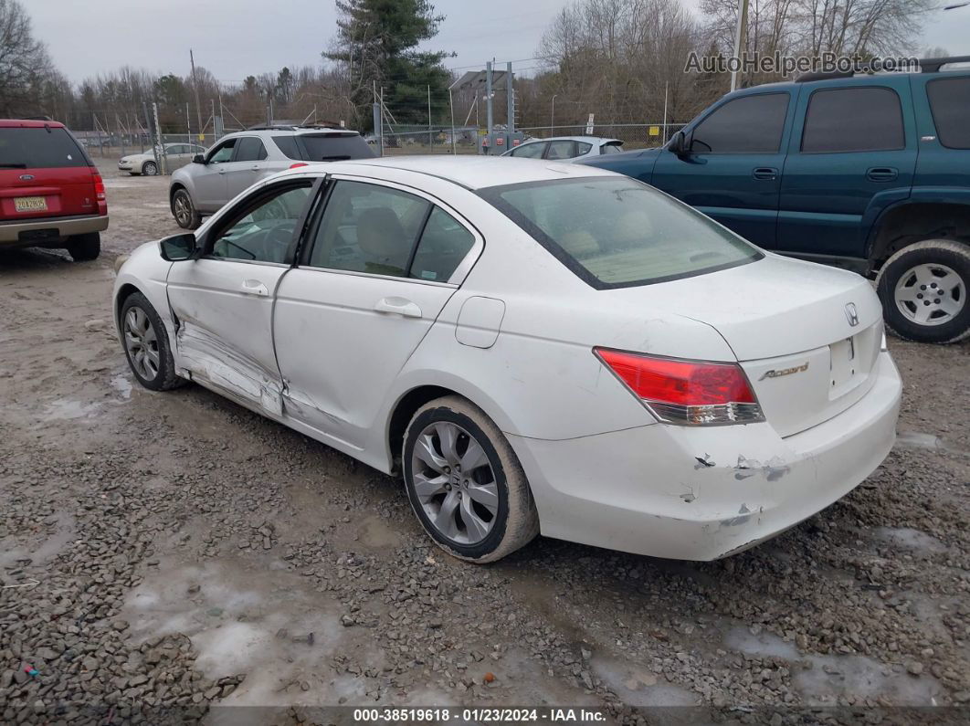
[[[313,246],[316,244],[317,232],[319,230],[320,224],[323,221],[323,216],[327,212],[327,206],[330,205],[330,198],[333,195],[334,189],[337,188],[337,184],[339,181],[355,181],[362,184],[372,184],[374,186],[384,187],[385,189],[395,189],[399,192],[410,194],[428,203],[428,210],[426,211],[425,216],[422,219],[421,225],[418,229],[418,233],[414,238],[414,241],[412,242],[411,250],[410,250],[410,253],[408,254],[407,268],[405,268],[404,270],[404,273],[407,276],[379,274],[377,272],[363,272],[355,269],[323,268],[316,265],[310,265],[309,259],[310,259],[310,255],[313,252]],[[474,190],[469,190],[469,191],[471,191],[473,194],[475,193]],[[449,287],[449,288],[457,289],[461,287],[462,283],[469,276],[469,272],[471,271],[471,268],[473,268],[478,263],[478,260],[481,259],[482,253],[485,251],[485,236],[478,231],[477,227],[471,224],[471,222],[469,222],[468,219],[466,219],[460,212],[455,210],[451,205],[448,205],[442,202],[441,200],[437,199],[435,196],[429,194],[423,189],[419,189],[418,187],[413,187],[413,186],[410,186],[409,184],[405,184],[400,181],[377,179],[371,176],[357,176],[354,174],[339,174],[339,176],[332,176],[330,174],[327,174],[326,186],[323,189],[323,192],[320,196],[321,196],[320,204],[316,206],[316,208],[312,213],[311,219],[309,219],[307,221],[307,224],[305,225],[306,229],[304,231],[303,242],[301,243],[300,251],[294,265],[296,268],[317,270],[321,272],[330,272],[332,274],[355,275],[358,277],[376,277],[376,278],[385,279],[385,280],[399,280],[402,282],[411,282],[417,285],[434,285],[437,287]],[[421,277],[410,277],[409,276],[410,268],[414,262],[414,256],[417,253],[417,248],[421,244],[421,237],[424,236],[425,227],[428,225],[428,220],[431,219],[431,215],[432,215],[432,212],[435,211],[435,207],[440,208],[441,211],[445,212],[448,216],[450,216],[452,219],[458,222],[462,227],[468,230],[471,236],[474,237],[474,243],[471,245],[471,248],[469,249],[466,256],[462,258],[462,261],[455,267],[454,271],[451,273],[451,276],[447,280],[426,280]],[[474,256],[474,259],[471,261],[470,265],[466,266],[466,263],[468,263],[469,258],[472,255]],[[462,270],[461,279],[458,280],[457,282],[452,282],[451,281],[452,278],[454,278],[454,276],[459,272],[459,270]]]

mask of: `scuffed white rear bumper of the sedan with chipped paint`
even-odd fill
[[[509,440],[529,477],[542,534],[711,560],[753,547],[857,487],[892,448],[901,392],[884,352],[865,396],[787,438],[764,423]]]

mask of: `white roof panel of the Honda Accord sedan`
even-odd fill
[[[315,165],[314,165],[315,166]],[[394,169],[416,174],[428,174],[454,182],[467,189],[484,189],[490,186],[519,184],[530,181],[551,181],[586,176],[616,176],[613,172],[575,164],[543,162],[535,159],[501,158],[436,154],[427,156],[385,156],[377,159],[327,162],[321,166],[321,174],[373,174],[375,168]],[[306,167],[293,170],[305,172]]]

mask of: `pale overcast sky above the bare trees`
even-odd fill
[[[956,0],[940,0],[947,5]],[[436,38],[423,47],[455,51],[445,64],[459,71],[486,60],[517,61],[531,75],[542,32],[571,0],[436,0],[446,16]],[[695,11],[698,0],[683,0]],[[122,65],[189,73],[195,62],[216,79],[239,83],[248,75],[283,66],[315,65],[330,45],[336,11],[330,0],[21,0],[35,35],[48,44],[62,73],[75,82]],[[150,10],[145,9],[150,6]],[[927,14],[920,47],[970,55],[970,7]]]

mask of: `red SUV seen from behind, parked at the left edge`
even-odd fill
[[[71,132],[0,119],[0,247],[62,247],[93,260],[105,229],[105,182]]]

